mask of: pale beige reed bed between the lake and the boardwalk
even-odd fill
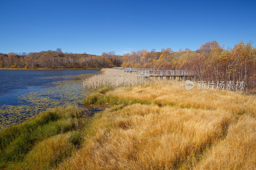
[[[86,78],[83,81],[84,87],[96,90],[101,87],[117,88],[133,85],[148,85],[151,81],[148,78],[135,77],[134,74],[116,69],[102,69],[103,74]]]

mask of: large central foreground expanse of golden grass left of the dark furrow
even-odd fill
[[[231,114],[133,104],[95,115],[82,149],[60,169],[173,169],[223,137]]]

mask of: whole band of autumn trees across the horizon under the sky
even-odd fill
[[[256,48],[252,41],[240,41],[233,48],[220,46],[217,41],[201,44],[196,51],[186,48],[173,52],[171,48],[156,52],[142,49],[124,55],[114,51],[102,55],[63,53],[0,53],[0,68],[155,68],[157,70],[191,70],[201,81],[239,81],[244,86],[256,87]]]

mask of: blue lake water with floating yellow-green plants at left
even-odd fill
[[[100,69],[0,70],[0,128],[23,122],[47,109],[81,105],[82,80]]]

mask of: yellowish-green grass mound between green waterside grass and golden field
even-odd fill
[[[36,144],[25,159],[11,169],[44,170],[57,167],[77,149],[81,140],[80,131],[71,131],[47,138]]]

